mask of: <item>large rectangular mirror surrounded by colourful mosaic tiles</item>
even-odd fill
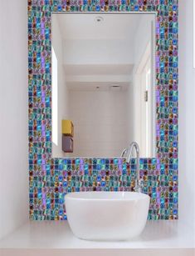
[[[52,13],[52,157],[155,157],[155,15]]]

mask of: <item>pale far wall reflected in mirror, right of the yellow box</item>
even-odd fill
[[[75,126],[74,153],[80,157],[116,157],[127,147],[126,91],[70,91]]]

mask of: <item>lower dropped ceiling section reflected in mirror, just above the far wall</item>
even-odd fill
[[[134,65],[65,65],[66,83],[70,90],[109,90],[113,84],[126,89]]]

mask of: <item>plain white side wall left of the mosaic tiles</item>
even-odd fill
[[[0,238],[28,218],[27,0],[0,6]]]

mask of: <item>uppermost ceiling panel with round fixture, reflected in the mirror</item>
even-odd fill
[[[134,36],[143,14],[54,14],[57,15],[62,37],[73,39],[127,39]],[[103,18],[97,23],[96,17]]]

